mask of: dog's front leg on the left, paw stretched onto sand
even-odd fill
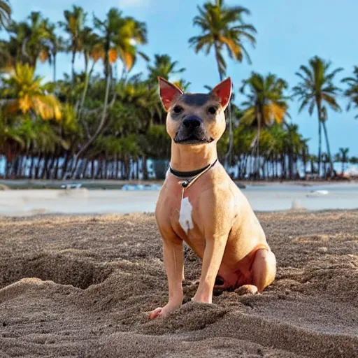
[[[182,241],[178,238],[175,241],[164,239],[164,266],[168,276],[169,301],[166,306],[153,310],[150,318],[165,316],[172,310],[180,307],[182,304],[182,276],[183,276],[183,259],[182,259]]]

